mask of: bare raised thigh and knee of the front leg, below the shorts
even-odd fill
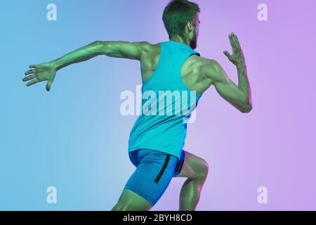
[[[180,173],[176,177],[199,178],[199,174],[203,174],[205,169],[208,168],[207,162],[197,155],[193,155],[186,150],[183,151],[185,153],[185,160]]]

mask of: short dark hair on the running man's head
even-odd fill
[[[171,0],[164,8],[164,14],[162,15],[169,39],[175,37],[177,34],[183,37],[185,25],[190,20],[192,21],[199,12],[200,8],[198,4],[187,0]]]

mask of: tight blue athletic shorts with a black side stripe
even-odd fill
[[[178,176],[185,160],[185,151],[180,159],[159,150],[140,148],[129,152],[129,159],[136,166],[126,182],[127,188],[155,205],[169,186],[172,177]]]

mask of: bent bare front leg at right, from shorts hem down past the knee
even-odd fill
[[[177,176],[187,177],[180,191],[180,211],[195,210],[208,172],[209,166],[205,160],[185,151],[183,168]]]

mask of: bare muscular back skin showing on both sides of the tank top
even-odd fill
[[[143,83],[150,79],[160,58],[160,44],[146,44],[140,57],[140,70]],[[192,55],[188,58],[181,68],[181,78],[183,82],[192,91],[203,94],[211,86],[211,79],[204,76],[200,70],[206,58]]]

